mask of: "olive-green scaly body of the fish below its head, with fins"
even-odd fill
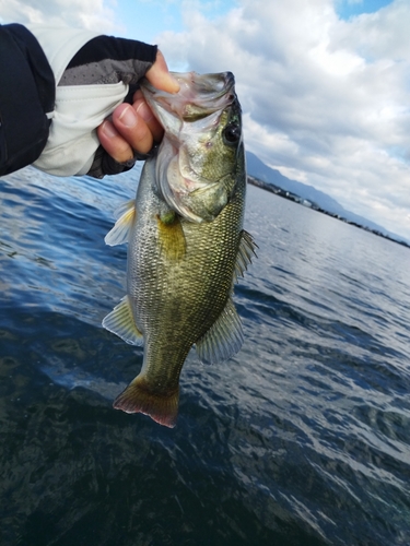
[[[164,199],[159,188],[161,161],[159,154],[145,162],[134,207],[129,205],[113,229],[112,239],[121,223],[119,238],[128,230],[127,296],[103,324],[129,343],[140,344],[143,339],[144,344],[142,369],[114,406],[173,427],[179,375],[192,345],[202,361],[211,363],[227,359],[241,348],[242,324],[232,294],[236,276],[250,262],[254,244],[243,230],[242,142],[227,169],[229,200],[212,221],[187,219],[175,211],[174,201]],[[200,202],[195,206],[197,214]],[[118,237],[110,244],[117,242]]]

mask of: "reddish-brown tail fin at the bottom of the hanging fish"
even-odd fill
[[[179,388],[169,394],[159,393],[149,388],[141,376],[122,391],[114,401],[116,410],[126,413],[142,413],[165,427],[174,428],[178,415]]]

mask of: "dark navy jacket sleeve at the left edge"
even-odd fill
[[[0,176],[40,155],[55,93],[52,70],[37,39],[22,25],[0,25]]]

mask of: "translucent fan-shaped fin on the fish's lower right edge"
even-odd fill
[[[212,327],[197,342],[199,359],[204,364],[220,363],[234,356],[244,342],[242,322],[232,298]]]

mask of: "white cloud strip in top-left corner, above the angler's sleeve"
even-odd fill
[[[116,1],[110,0],[0,0],[2,23],[43,23],[101,31],[122,29],[115,16]]]

